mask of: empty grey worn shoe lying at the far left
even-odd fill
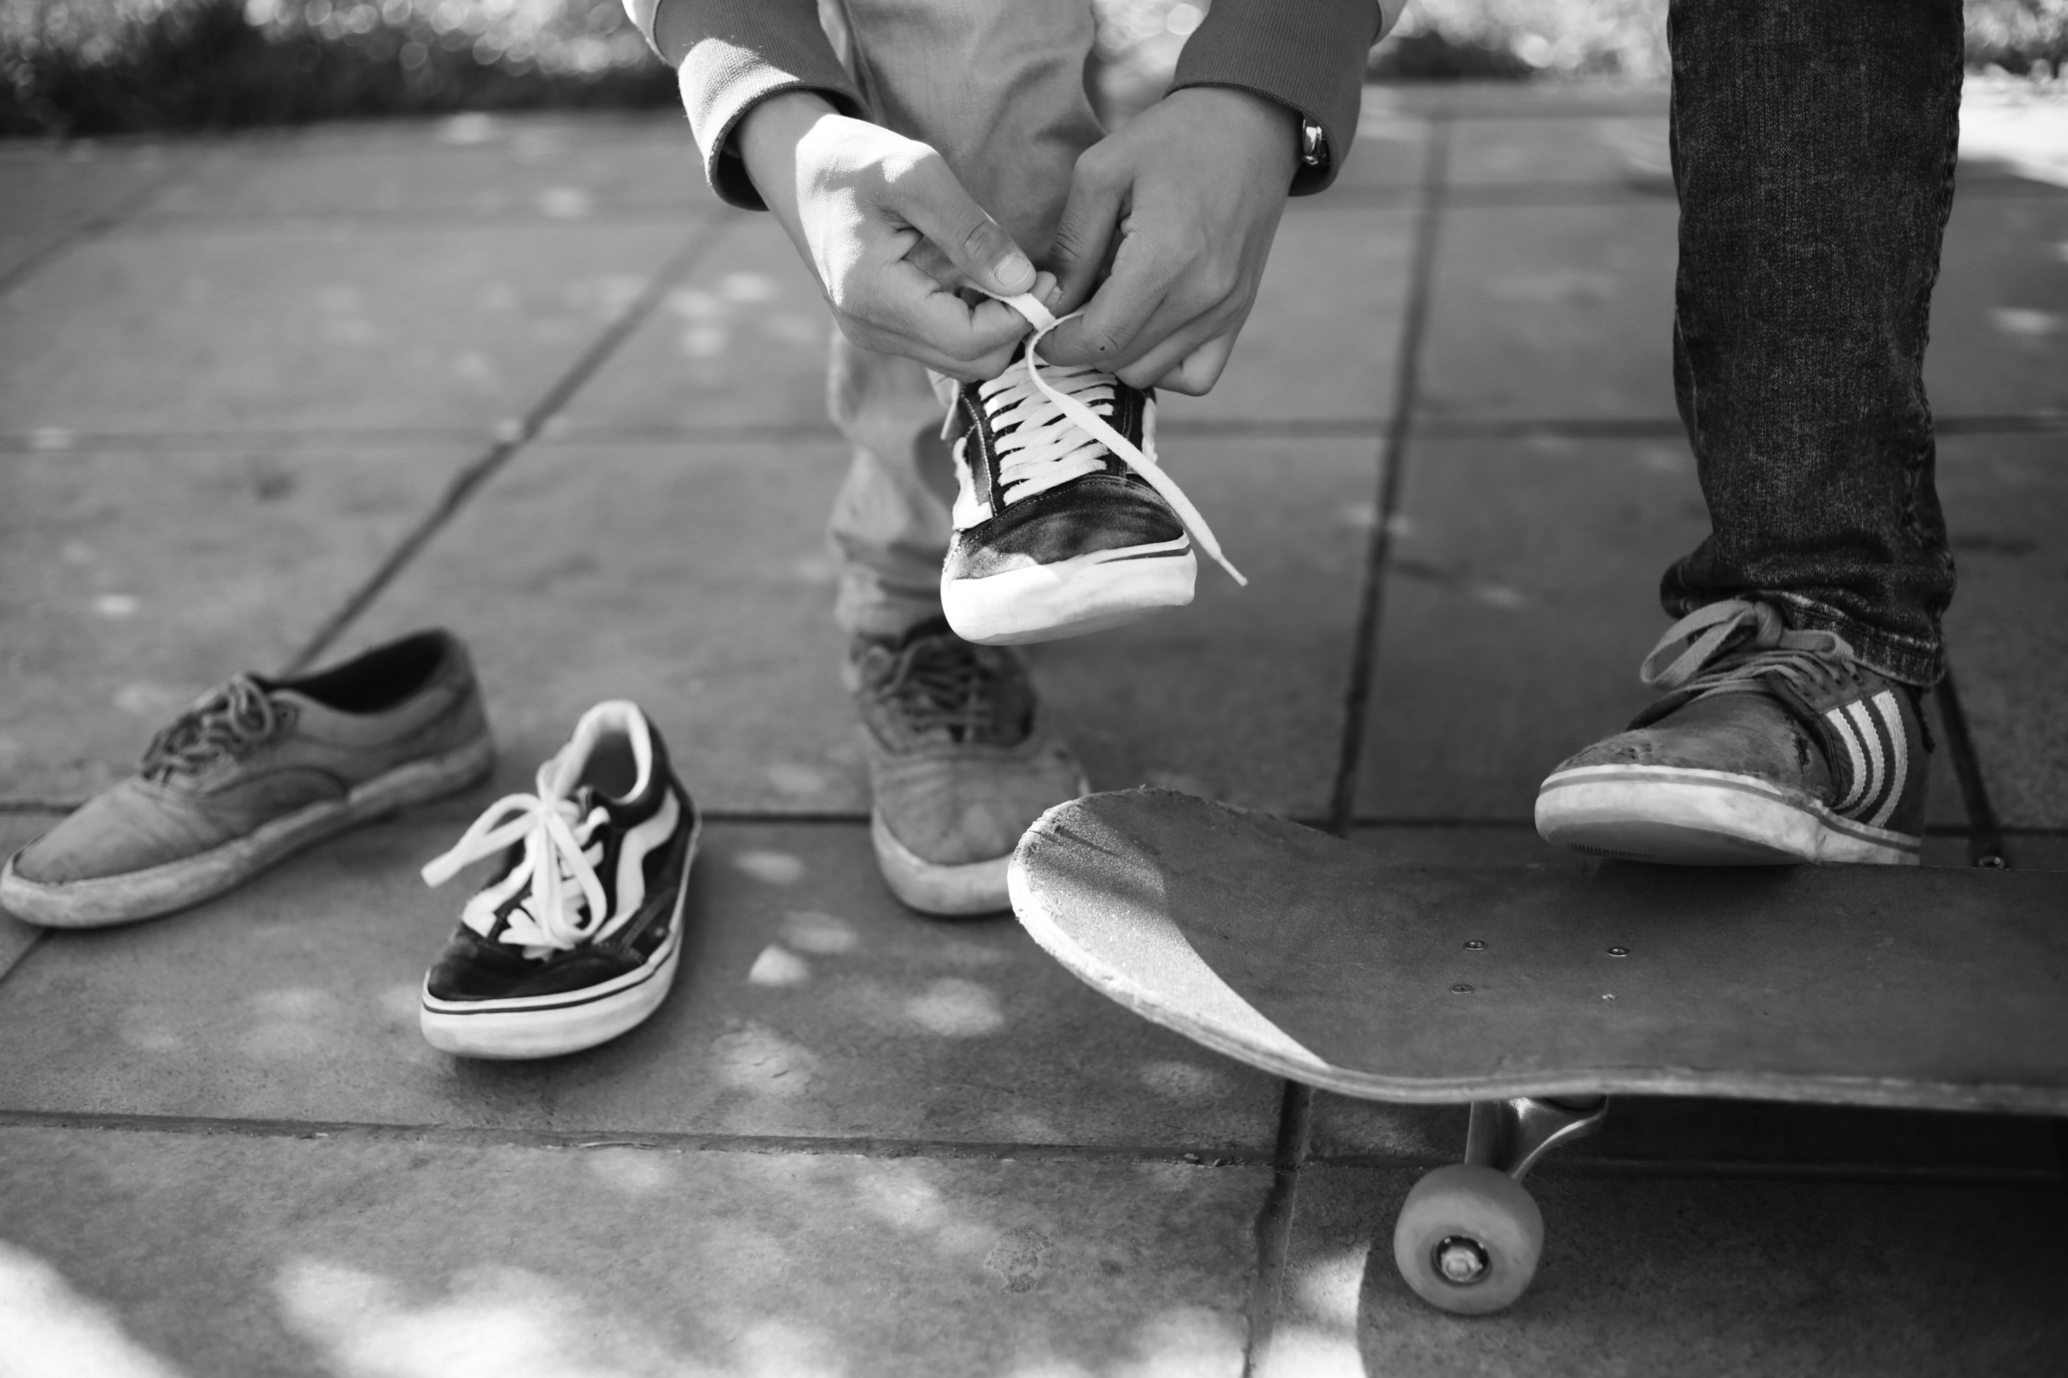
[[[0,870],[0,909],[48,928],[151,919],[492,766],[474,665],[449,632],[308,676],[240,674],[159,731],[139,775],[23,847]]]

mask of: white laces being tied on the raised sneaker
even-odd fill
[[[1059,463],[1067,465],[1073,461],[1077,463],[1088,461],[1092,444],[1086,440],[1077,440],[1075,436],[1069,436],[1057,424],[1063,417],[1067,417],[1075,421],[1079,432],[1084,432],[1098,444],[1119,455],[1121,463],[1139,473],[1148,481],[1148,486],[1156,490],[1156,496],[1160,496],[1164,502],[1170,504],[1170,510],[1175,510],[1177,519],[1185,523],[1185,531],[1191,535],[1193,541],[1199,543],[1199,550],[1212,556],[1214,562],[1220,564],[1220,568],[1228,570],[1228,576],[1235,578],[1235,583],[1247,587],[1249,581],[1243,578],[1241,570],[1228,564],[1228,558],[1220,554],[1220,541],[1214,539],[1214,529],[1206,525],[1204,516],[1199,516],[1199,508],[1191,504],[1191,498],[1185,496],[1185,490],[1181,490],[1177,481],[1168,473],[1164,473],[1162,465],[1156,463],[1154,432],[1150,428],[1144,428],[1142,444],[1135,446],[1131,440],[1127,440],[1127,436],[1108,426],[1106,419],[1100,417],[1096,411],[1092,411],[1092,407],[1088,405],[1094,401],[1104,401],[1104,403],[1113,401],[1113,384],[1108,382],[1111,374],[1102,374],[1096,368],[1069,368],[1061,364],[1051,364],[1046,372],[1055,378],[1055,382],[1042,376],[1042,368],[1036,364],[1034,357],[1036,345],[1040,345],[1042,337],[1048,335],[1048,331],[1057,328],[1065,320],[1075,320],[1084,312],[1071,312],[1069,316],[1055,316],[1030,291],[1020,293],[1017,297],[999,297],[999,302],[1011,306],[1015,312],[1028,318],[1028,324],[1034,326],[1034,335],[1032,339],[1028,339],[1026,347],[1026,376],[1028,382],[1032,384],[1032,393],[1026,388],[1026,384],[1020,382],[1020,378],[1007,372],[999,378],[999,382],[1003,382],[1005,386],[1001,386],[997,393],[986,395],[986,401],[993,397],[1005,399],[1005,405],[993,411],[993,415],[1003,415],[1007,409],[1024,413],[1020,432],[1015,432],[1015,436],[1007,436],[1005,442],[999,444],[1001,461],[1005,461],[1001,463],[999,477],[1007,486],[1011,486],[1017,475],[1017,481],[1024,483],[1034,477],[1036,467],[1048,469],[1051,465]],[[1040,401],[1036,401],[1034,397],[1036,393],[1040,395],[1042,401],[1048,403],[1046,409],[1040,405]],[[1020,440],[1020,444],[1011,444],[1022,434],[1026,436],[1026,440]],[[1094,467],[1090,463],[1084,463],[1082,473],[1092,473],[1092,471]],[[1067,471],[1063,473],[1065,479],[1077,477],[1075,473]],[[1055,481],[1042,481],[1042,488],[1053,488]]]

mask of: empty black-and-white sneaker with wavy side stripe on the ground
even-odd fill
[[[625,700],[581,715],[538,793],[488,806],[424,868],[500,855],[424,977],[424,1037],[469,1058],[554,1058],[660,1008],[682,952],[701,822],[660,733]]]

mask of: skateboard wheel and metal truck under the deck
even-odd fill
[[[1551,1149],[1594,1134],[1607,1114],[1605,1095],[1472,1101],[1464,1161],[1417,1182],[1394,1223],[1394,1264],[1406,1285],[1466,1316],[1520,1297],[1545,1240],[1522,1178]]]

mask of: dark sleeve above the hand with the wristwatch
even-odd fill
[[[1292,194],[1319,192],[1357,136],[1365,56],[1400,8],[1400,0],[1214,0],[1185,39],[1170,89],[1239,87],[1319,124],[1328,163],[1303,165]]]

